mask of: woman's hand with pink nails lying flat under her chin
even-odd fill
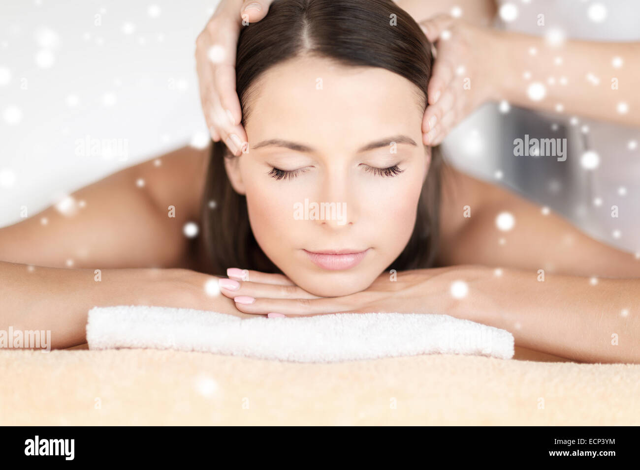
[[[281,274],[232,268],[232,279],[221,279],[220,292],[234,299],[236,308],[269,317],[328,313],[448,313],[448,276],[452,267],[384,272],[369,288],[342,297],[317,297]],[[443,285],[436,278],[445,281]]]

